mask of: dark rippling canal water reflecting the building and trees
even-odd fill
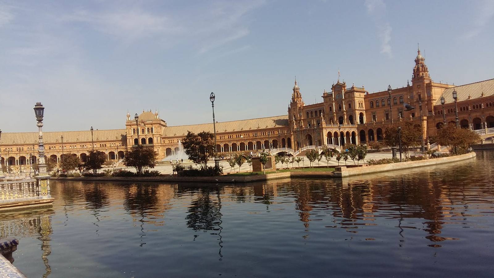
[[[28,277],[492,277],[494,151],[344,181],[52,182],[0,213]]]

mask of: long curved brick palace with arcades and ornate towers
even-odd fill
[[[426,139],[445,122],[455,123],[456,113],[462,128],[475,130],[484,138],[494,136],[494,79],[461,86],[436,83],[420,49],[417,52],[411,84],[407,82],[389,92],[369,93],[364,87],[347,87],[338,80],[329,92],[323,91],[322,102],[305,105],[295,80],[288,115],[216,123],[217,151],[228,156],[261,149],[296,151],[310,145],[369,143],[382,140],[386,126],[399,121],[419,123]],[[453,91],[457,93],[456,101]],[[68,153],[84,161],[92,149],[105,152],[110,160],[118,160],[135,144],[152,146],[159,158],[166,160],[179,150],[179,140],[188,131],[212,133],[213,124],[168,126],[158,112],[151,111],[143,111],[136,123],[127,112],[124,129],[43,135],[46,155],[58,162]],[[13,169],[29,168],[26,166],[37,159],[37,139],[36,132],[2,133],[1,164],[7,163]]]

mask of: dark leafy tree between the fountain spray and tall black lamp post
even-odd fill
[[[189,131],[182,140],[182,145],[189,159],[199,164],[201,170],[207,169],[207,161],[216,154],[214,150],[214,135],[210,132],[203,131],[196,135]]]

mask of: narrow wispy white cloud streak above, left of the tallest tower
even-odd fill
[[[391,51],[391,25],[383,19],[386,13],[386,4],[383,0],[366,0],[364,2],[367,13],[372,17],[377,28],[377,37],[381,42],[381,53],[387,54],[388,57],[393,57]]]

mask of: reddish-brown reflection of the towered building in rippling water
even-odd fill
[[[464,173],[458,174],[458,177],[462,176]],[[422,229],[427,232],[425,238],[432,242],[429,246],[441,247],[438,242],[455,239],[440,234],[445,221],[458,216],[457,206],[454,207],[455,201],[462,202],[458,194],[465,194],[464,188],[448,185],[458,177],[447,177],[437,182],[437,173],[429,171],[413,178],[397,176],[396,179],[386,179],[385,183],[375,176],[343,183],[328,181],[322,185],[314,185],[308,180],[292,180],[287,191],[295,193],[295,207],[305,232],[309,232],[310,221],[316,220],[311,217],[317,218],[319,213],[329,212],[332,216],[335,226],[328,228],[343,228],[347,232],[358,232],[360,225],[377,225],[372,223],[377,217],[386,217],[398,220],[396,228],[400,237],[406,236],[406,229]],[[264,194],[261,194],[262,186],[254,185],[255,196]],[[455,196],[455,201],[451,195]],[[425,227],[404,225],[407,219],[425,220],[421,223]]]

